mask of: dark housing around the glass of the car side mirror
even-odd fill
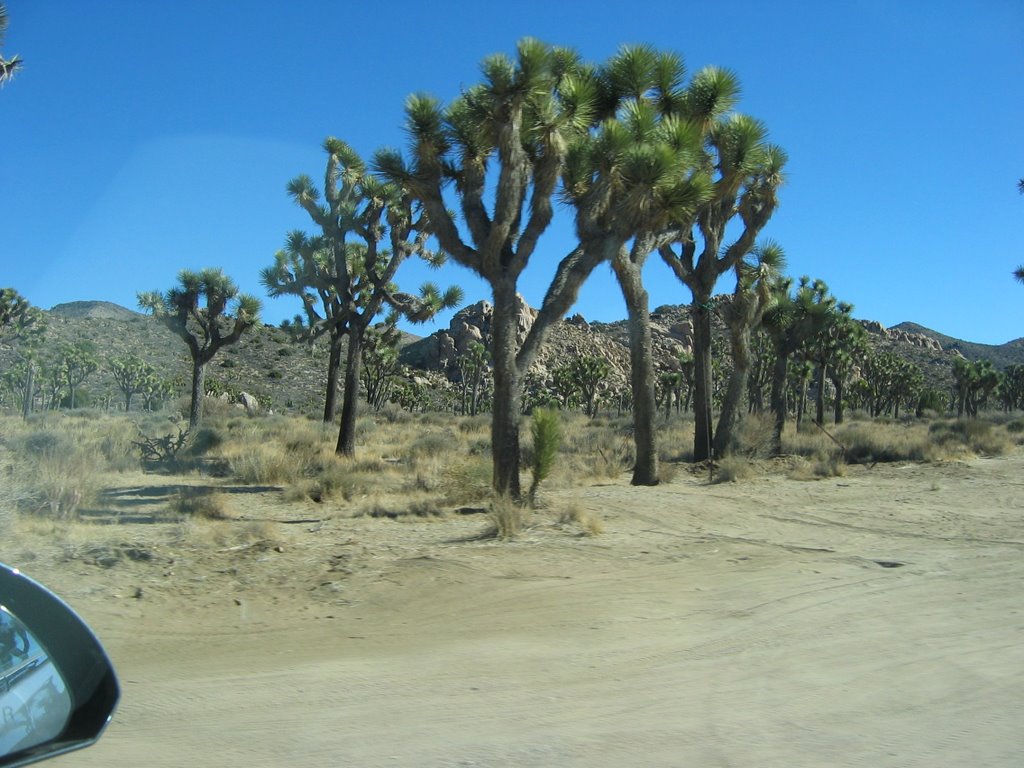
[[[44,652],[39,656],[42,659],[40,669],[52,664],[68,694],[62,696],[63,707],[55,715],[63,720],[62,726],[58,724],[53,729],[55,735],[47,734],[43,740],[14,752],[0,752],[0,766],[29,765],[94,743],[110,722],[120,697],[114,667],[95,635],[60,598],[16,568],[2,563],[0,606],[17,620],[16,623],[41,647]],[[24,665],[18,669],[18,678],[27,677],[24,669]],[[0,670],[0,675],[3,673]],[[28,675],[37,674],[40,673],[28,672]],[[13,691],[11,681],[7,677],[3,679],[0,692]]]

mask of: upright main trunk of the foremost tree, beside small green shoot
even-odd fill
[[[493,483],[498,496],[519,501],[521,383],[516,366],[515,279],[503,275],[492,283],[492,289],[495,299],[490,328],[495,364],[495,399],[490,413]]]

